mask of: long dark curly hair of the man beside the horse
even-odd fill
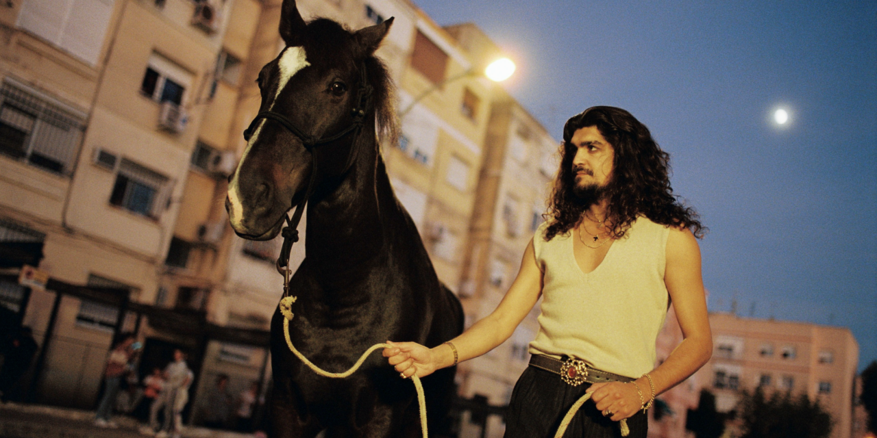
[[[560,170],[545,214],[546,242],[558,234],[567,235],[590,207],[574,194],[573,159],[578,148],[572,143],[574,132],[588,126],[595,126],[615,151],[611,178],[604,191],[609,199],[606,217],[611,218],[612,237],[624,237],[638,215],[645,215],[654,223],[687,228],[695,237],[703,237],[707,228],[700,222],[700,216],[694,208],[682,205],[670,187],[670,155],[660,149],[648,128],[631,113],[598,106],[571,117],[563,127]]]

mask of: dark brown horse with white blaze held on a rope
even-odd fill
[[[260,114],[225,200],[239,237],[274,238],[286,221],[286,242],[297,238],[289,209],[301,217],[307,203],[305,258],[288,277],[297,297],[289,338],[326,371],[348,369],[375,343],[436,346],[462,331],[460,300],[439,282],[381,158],[378,136],[396,141],[398,121],[374,52],[392,22],[355,32],[327,18],[306,23],[295,0],[283,1],[286,46],[260,71]],[[414,385],[383,357],[367,357],[349,378],[317,376],[290,353],[283,320],[278,307],[272,436],[421,435]],[[423,379],[431,429],[448,425],[454,371]]]

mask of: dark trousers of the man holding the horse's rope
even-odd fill
[[[553,438],[560,421],[589,386],[587,383],[568,385],[557,374],[528,366],[511,393],[505,438]],[[648,417],[638,411],[627,419],[627,425],[631,428],[627,438],[645,438]],[[588,400],[575,413],[563,436],[616,438],[621,437],[621,428],[618,421],[603,417],[594,402]]]

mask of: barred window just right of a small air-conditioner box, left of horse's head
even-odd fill
[[[168,177],[128,159],[122,159],[110,203],[154,219],[158,218],[165,206],[169,191]]]

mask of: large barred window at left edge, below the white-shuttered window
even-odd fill
[[[37,91],[11,81],[0,88],[0,153],[69,175],[84,124],[84,115]]]

